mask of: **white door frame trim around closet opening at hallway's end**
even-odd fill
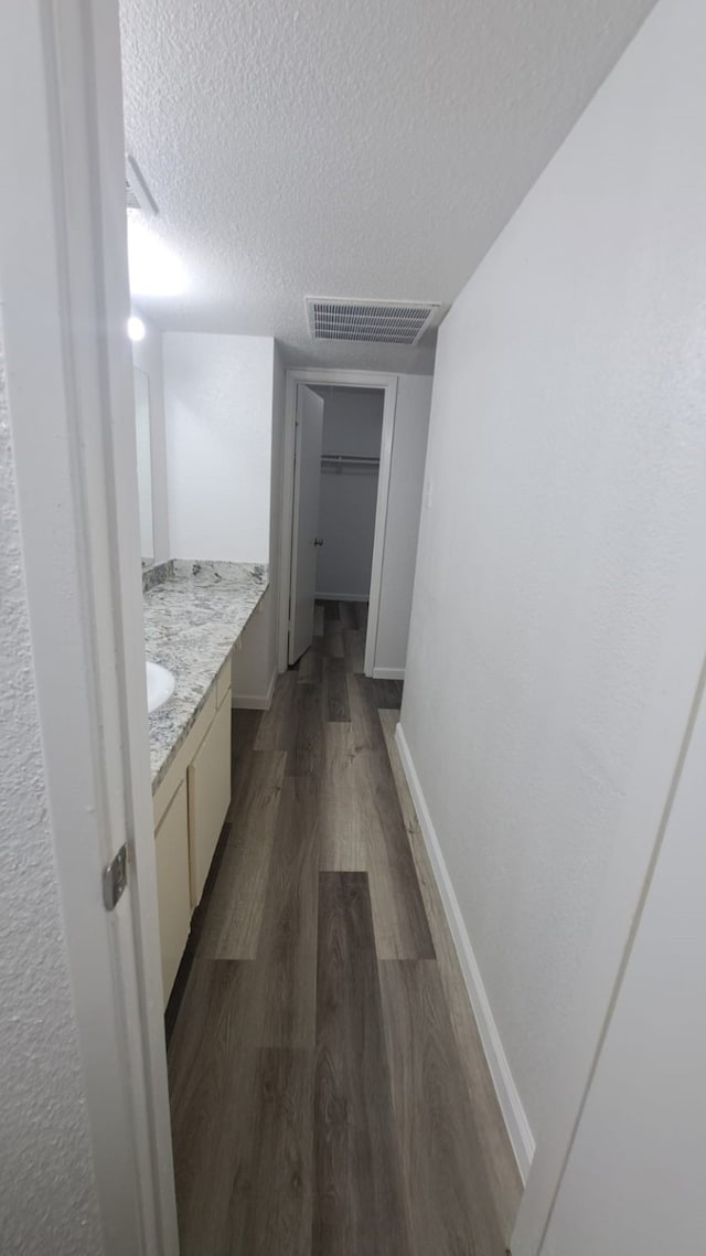
[[[296,438],[296,392],[299,384],[307,384],[313,388],[324,387],[325,384],[333,384],[337,388],[377,388],[384,393],[378,496],[376,505],[376,531],[373,541],[373,563],[371,570],[371,597],[368,605],[368,631],[366,636],[364,661],[366,676],[372,676],[376,663],[379,623],[384,536],[387,529],[389,477],[392,472],[392,446],[394,440],[394,420],[397,412],[397,383],[398,377],[396,374],[381,374],[373,371],[345,371],[338,367],[299,367],[286,372],[278,639],[278,667],[280,672],[286,671],[289,658],[289,598],[291,592],[291,546],[294,543],[294,450]]]

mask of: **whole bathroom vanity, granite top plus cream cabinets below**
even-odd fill
[[[166,564],[144,580],[147,656],[175,676],[149,716],[165,1005],[231,793],[231,653],[268,588],[244,563]]]

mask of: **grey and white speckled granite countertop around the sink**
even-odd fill
[[[268,583],[263,565],[177,559],[173,570],[143,594],[147,658],[168,667],[176,679],[172,697],[149,716],[152,793]]]

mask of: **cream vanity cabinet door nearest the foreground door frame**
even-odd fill
[[[155,834],[155,855],[162,948],[162,990],[166,1007],[191,924],[186,780],[182,780]]]

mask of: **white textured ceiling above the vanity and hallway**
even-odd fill
[[[448,305],[653,3],[121,0],[160,206],[137,231],[166,259],[136,303],[291,364],[430,372],[433,337],[315,344],[304,298]]]

